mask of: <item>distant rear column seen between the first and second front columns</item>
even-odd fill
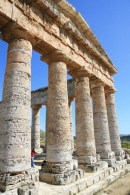
[[[41,105],[32,106],[32,132],[31,132],[31,146],[37,153],[40,150],[40,108]]]

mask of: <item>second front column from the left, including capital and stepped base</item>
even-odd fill
[[[53,184],[66,184],[74,181],[76,175],[79,175],[78,171],[76,171],[77,161],[73,161],[71,155],[66,75],[66,65],[69,60],[60,50],[51,52],[46,57],[42,57],[42,60],[49,64],[49,85],[47,101],[47,163],[40,171],[40,179]],[[71,177],[72,170],[74,170],[73,177]],[[69,178],[68,181],[66,177]]]

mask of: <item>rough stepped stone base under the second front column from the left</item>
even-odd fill
[[[84,176],[84,171],[78,169],[77,160],[61,163],[44,163],[39,172],[40,179],[54,185],[65,185]]]

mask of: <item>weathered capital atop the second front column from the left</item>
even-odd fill
[[[64,62],[67,65],[70,61],[69,57],[62,50],[58,49],[55,49],[47,53],[45,56],[41,56],[40,59],[46,62],[47,64],[53,62]]]

